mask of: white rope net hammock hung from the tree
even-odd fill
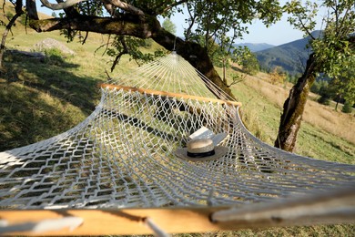
[[[173,210],[175,219],[179,215],[184,219],[184,211],[194,210],[208,222],[204,231],[218,230],[236,226],[210,222],[214,211],[233,207],[232,214],[215,212],[214,221],[236,222],[240,211],[255,203],[294,201],[294,197],[347,187],[351,199],[348,192],[345,196],[335,192],[343,198],[342,209],[337,206],[337,211],[345,206],[350,210],[347,220],[354,220],[355,166],[300,157],[256,139],[239,118],[240,104],[175,52],[110,79],[101,85],[101,94],[95,111],[75,128],[0,153],[0,219],[11,222],[12,213],[20,213],[14,217],[17,221],[13,220],[18,224],[22,220],[19,216],[30,213],[27,217],[31,221],[37,213],[31,210],[46,213],[46,219],[56,219],[52,214],[58,215],[60,210],[127,210],[132,215],[138,211],[137,215],[144,217],[138,218],[140,222],[157,233],[146,218],[155,215],[152,210],[165,217]],[[220,145],[228,152],[216,160],[177,157],[175,151],[186,147],[189,136],[201,128],[227,134]],[[282,206],[277,204],[272,210]],[[268,212],[268,208],[251,209]],[[236,210],[239,214],[233,219]],[[86,221],[92,216],[86,216]],[[164,225],[164,220],[158,219],[157,225]],[[240,226],[249,226],[243,220]],[[203,231],[194,222],[191,230],[167,225],[172,232]],[[0,233],[1,228],[0,223]],[[9,233],[6,228],[3,232]],[[14,228],[11,230],[14,233]],[[103,233],[111,232],[99,232]]]

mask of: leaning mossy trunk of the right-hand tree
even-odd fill
[[[289,152],[292,152],[295,148],[303,111],[309,96],[309,88],[316,78],[315,74],[316,60],[314,54],[311,54],[303,75],[299,77],[297,84],[290,89],[289,98],[284,103],[275,147]]]

